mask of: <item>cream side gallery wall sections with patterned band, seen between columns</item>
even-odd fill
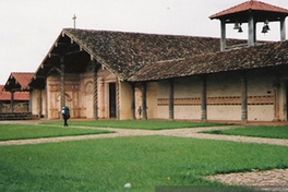
[[[274,119],[275,75],[268,70],[254,70],[247,73],[248,120],[272,121]],[[241,75],[227,72],[207,75],[207,119],[241,120]],[[175,80],[175,119],[201,119],[200,76]],[[168,81],[158,82],[158,118],[168,119]],[[166,99],[166,100],[165,100]],[[190,100],[189,100],[190,99]],[[195,101],[196,99],[197,101]],[[263,101],[264,100],[264,101]],[[284,99],[283,99],[284,100]]]

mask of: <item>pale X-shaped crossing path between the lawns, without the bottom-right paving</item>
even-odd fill
[[[56,125],[56,127],[59,127],[59,125]],[[71,128],[73,128],[73,127],[71,127]],[[260,144],[272,144],[272,145],[288,146],[288,140],[200,133],[201,131],[204,131],[204,130],[208,131],[208,130],[223,130],[223,129],[238,128],[237,125],[208,127],[208,128],[194,128],[194,129],[191,129],[191,128],[190,129],[175,129],[175,130],[160,130],[160,131],[111,129],[111,128],[110,129],[109,128],[101,129],[101,128],[92,128],[92,127],[74,127],[74,128],[109,130],[109,131],[113,131],[115,133],[95,134],[95,135],[80,135],[80,136],[48,137],[48,139],[33,139],[33,140],[2,141],[2,142],[0,142],[0,145],[25,145],[25,144],[40,144],[40,143],[58,143],[58,142],[79,141],[79,140],[95,140],[95,139],[106,139],[106,137],[117,137],[117,136],[119,137],[119,136],[142,136],[142,135],[167,135],[167,136],[179,136],[179,137],[193,137],[193,139],[204,139],[204,140],[225,140],[225,141],[232,141],[232,142],[260,143]]]

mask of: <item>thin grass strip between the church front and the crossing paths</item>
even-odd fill
[[[62,124],[62,121],[46,121],[44,124]],[[200,128],[227,125],[213,122],[188,122],[188,121],[160,121],[160,120],[98,120],[98,121],[74,121],[71,125],[97,127],[97,128],[120,128],[120,129],[142,129],[142,130],[166,130],[180,128]]]

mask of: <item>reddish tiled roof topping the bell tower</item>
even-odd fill
[[[219,19],[225,15],[230,15],[239,12],[247,12],[247,11],[265,11],[265,12],[276,12],[288,15],[288,10],[284,8],[279,8],[276,5],[272,5],[265,2],[256,1],[256,0],[250,0],[247,2],[243,2],[241,4],[238,4],[236,7],[232,7],[230,9],[224,10],[219,13],[213,14],[209,16],[209,19]]]

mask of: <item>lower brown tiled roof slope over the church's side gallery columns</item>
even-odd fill
[[[147,64],[129,81],[152,81],[288,64],[288,41]]]

